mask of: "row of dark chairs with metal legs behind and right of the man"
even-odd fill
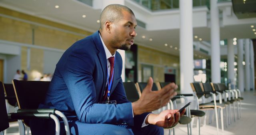
[[[169,82],[154,83],[152,87],[152,91],[160,90],[162,87],[164,87],[168,83]],[[147,83],[143,83],[143,82],[138,82],[138,83],[124,82],[124,88],[126,90],[126,95],[128,97],[128,100],[137,101],[142,93],[142,90],[144,89],[144,87],[146,87],[146,85]],[[191,83],[190,85],[192,87],[193,93],[178,94],[176,97],[171,99],[170,103],[172,104],[173,102],[174,106],[176,106],[175,105],[176,99],[183,98],[185,99],[186,103],[188,103],[187,97],[191,97],[191,96],[194,97],[194,99],[196,100],[196,105],[194,109],[191,109],[191,110],[188,109],[190,110],[188,116],[192,116],[192,118],[194,116],[198,116],[199,135],[200,135],[200,117],[205,115],[204,111],[208,111],[208,110],[214,111],[217,132],[219,132],[218,112],[220,113],[222,131],[224,131],[223,110],[225,111],[227,128],[228,128],[228,125],[232,123],[231,115],[234,116],[234,121],[236,121],[236,112],[237,112],[237,119],[241,117],[241,100],[243,98],[241,97],[240,91],[238,89],[229,90],[226,87],[226,85],[224,85],[223,83]],[[199,103],[199,99],[202,99],[202,103]],[[238,103],[240,104],[238,105]],[[231,105],[233,105],[233,111],[231,111]],[[199,111],[199,110],[203,110],[203,111]],[[182,123],[182,121],[180,121],[180,123]],[[191,123],[188,123],[188,134],[192,134],[192,131],[191,131],[192,123],[193,121]],[[210,111],[209,123],[212,123],[212,111]],[[206,124],[206,117],[204,119],[204,125],[205,124]]]

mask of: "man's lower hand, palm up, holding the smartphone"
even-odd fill
[[[146,118],[146,124],[158,125],[159,127],[170,128],[178,123],[180,117],[185,113],[184,109],[181,113],[178,110],[165,110],[160,114],[150,114]],[[174,113],[176,116],[174,118]],[[170,118],[170,120],[168,120]]]

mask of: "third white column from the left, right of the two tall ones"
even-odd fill
[[[228,80],[230,80],[231,86],[234,89],[234,45],[233,39],[228,39]]]

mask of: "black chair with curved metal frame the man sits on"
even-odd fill
[[[38,115],[50,113],[47,119],[54,120],[56,135],[60,134],[60,122],[55,115],[59,115],[64,121],[66,135],[70,135],[68,121],[63,113],[56,109],[38,109],[38,105],[45,99],[50,81],[19,81],[14,79],[12,84],[18,102],[18,113],[30,112]],[[29,119],[23,119],[22,122],[29,127]]]

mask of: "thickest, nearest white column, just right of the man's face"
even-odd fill
[[[180,92],[192,93],[193,82],[193,26],[192,0],[180,0]]]

